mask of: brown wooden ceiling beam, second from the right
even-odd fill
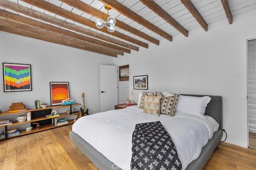
[[[188,11],[194,16],[198,23],[203,27],[205,31],[208,31],[208,25],[201,14],[198,12],[196,7],[192,4],[190,0],[180,0],[182,4],[188,9]]]

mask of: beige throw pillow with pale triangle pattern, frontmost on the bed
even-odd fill
[[[144,112],[159,116],[161,96],[145,96]]]

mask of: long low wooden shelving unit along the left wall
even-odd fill
[[[72,106],[78,106],[78,105],[81,105],[80,103],[75,103],[74,105]],[[0,127],[4,127],[5,128],[5,133],[7,132],[7,127],[9,126],[16,126],[16,125],[22,125],[22,124],[27,124],[27,123],[30,123],[30,127],[32,125],[33,122],[40,122],[40,121],[44,121],[44,120],[49,120],[49,119],[53,119],[53,118],[48,118],[46,116],[46,114],[44,115],[39,115],[39,116],[32,116],[33,114],[36,114],[36,112],[38,111],[48,111],[49,109],[53,110],[53,109],[57,109],[57,108],[63,108],[63,107],[70,107],[70,105],[67,105],[67,106],[62,106],[62,105],[58,105],[58,106],[48,106],[46,108],[40,108],[40,109],[28,109],[26,111],[19,111],[19,112],[15,112],[15,113],[7,113],[7,111],[4,111],[0,114],[0,119],[1,119],[1,116],[2,115],[13,115],[13,114],[18,114],[18,113],[26,113],[28,111],[31,112],[31,121],[23,121],[23,122],[18,122],[18,121],[13,121],[12,124],[10,125],[2,125]],[[41,113],[42,114],[42,113]],[[54,118],[59,118],[59,117],[66,117],[66,116],[69,116],[70,114],[68,113],[58,113],[60,116],[58,117],[54,117]],[[72,113],[73,115],[74,113]],[[77,114],[77,118],[80,118],[82,117],[82,113],[79,111],[78,113],[75,113]],[[54,120],[52,120],[53,122]],[[68,124],[72,124],[74,123],[74,119],[70,119],[68,120],[68,123],[67,124],[64,124],[64,125],[68,125]],[[27,135],[27,134],[30,134],[30,133],[35,133],[35,132],[39,132],[39,131],[44,131],[44,130],[47,130],[47,129],[52,129],[52,128],[56,128],[56,127],[60,127],[60,126],[64,126],[64,125],[57,125],[57,126],[54,126],[53,123],[48,123],[48,124],[45,124],[45,125],[40,125],[40,129],[37,129],[36,127],[33,127],[32,131],[26,131],[26,129],[20,129],[20,135],[15,135],[15,136],[10,136],[10,137],[5,137],[5,138],[0,138],[0,140],[3,140],[3,139],[7,139],[7,138],[12,138],[12,137],[17,137],[17,136],[21,136],[21,135]]]

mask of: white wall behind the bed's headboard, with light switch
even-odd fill
[[[129,64],[130,92],[133,76],[148,75],[148,92],[223,96],[223,124],[226,142],[248,146],[246,106],[246,39],[256,37],[256,10],[234,16],[233,24],[222,20],[176,35],[173,42],[162,40],[148,49],[114,59],[116,65]],[[240,74],[234,80],[234,73]]]

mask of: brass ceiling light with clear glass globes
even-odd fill
[[[105,9],[106,10],[111,10],[110,6],[107,6],[107,5],[105,5]],[[103,28],[105,26],[105,27],[107,27],[109,32],[114,32],[115,31],[116,19],[112,16],[108,16],[107,22],[104,22],[101,19],[97,19],[95,21],[95,24],[96,24],[97,28]]]

